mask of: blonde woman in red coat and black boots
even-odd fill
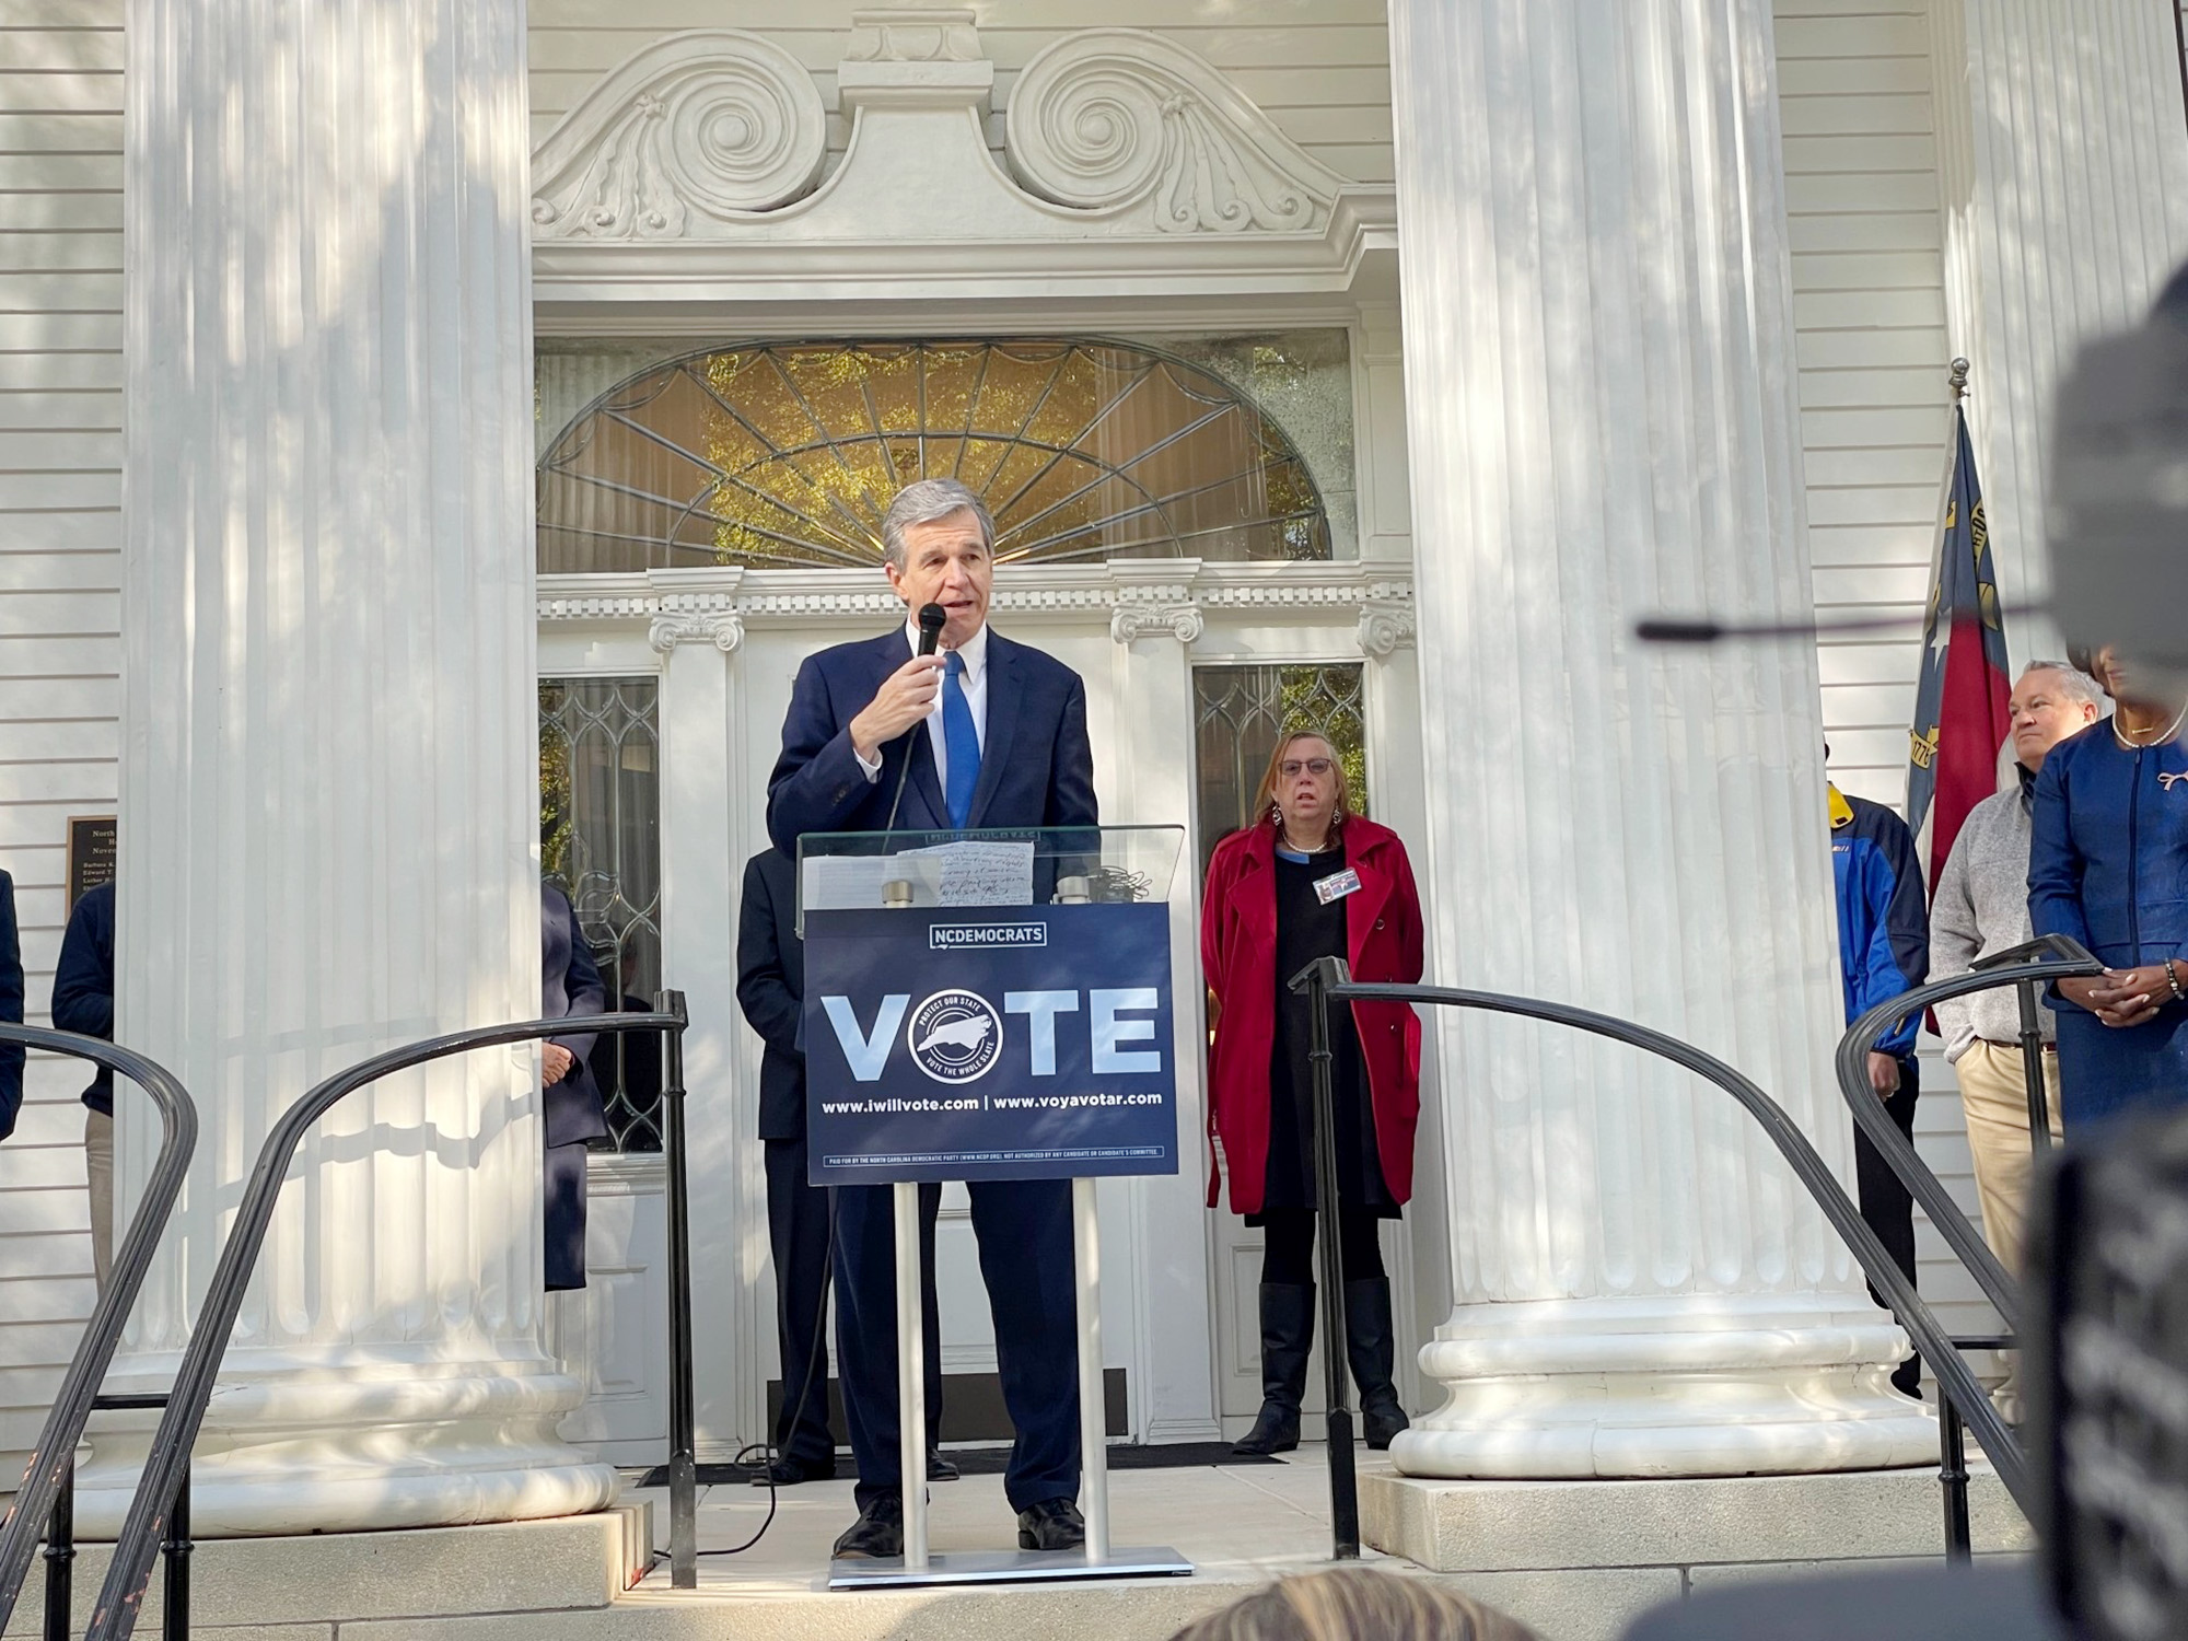
[[[1260,1387],[1234,1451],[1300,1444],[1300,1398],[1315,1341],[1315,1144],[1306,998],[1287,980],[1341,956],[1357,980],[1420,980],[1420,895],[1405,845],[1350,814],[1346,772],[1319,735],[1287,735],[1260,779],[1252,823],[1208,862],[1201,965],[1214,993],[1208,1118],[1230,1160],[1232,1212],[1262,1227]],[[1396,1337],[1376,1221],[1413,1195],[1420,1020],[1403,1002],[1361,1002],[1330,1022],[1337,1127],[1337,1241],[1346,1341],[1368,1446],[1405,1429],[1392,1385]],[[1217,1201],[1208,1179],[1208,1206]]]

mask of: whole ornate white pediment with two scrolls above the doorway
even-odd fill
[[[1396,252],[1387,186],[1140,28],[1041,50],[1002,160],[971,11],[856,13],[836,83],[851,131],[823,177],[821,94],[766,37],[670,35],[615,68],[534,155],[540,298],[1346,291]]]

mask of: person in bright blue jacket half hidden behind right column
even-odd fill
[[[1831,748],[1823,748],[1829,757]],[[1921,858],[1908,823],[1869,799],[1849,799],[1836,785],[1831,801],[1831,880],[1838,891],[1838,969],[1851,1026],[1879,1002],[1923,982],[1930,971],[1930,912],[1921,897]],[[1877,1039],[1869,1055],[1869,1087],[1893,1125],[1915,1138],[1921,1076],[1915,1066],[1915,1013]],[[1862,1221],[1877,1234],[1893,1262],[1915,1282],[1915,1195],[1869,1136],[1853,1131],[1853,1184]],[[1877,1304],[1884,1295],[1869,1289]],[[1893,1387],[1921,1396],[1921,1357],[1893,1370]]]

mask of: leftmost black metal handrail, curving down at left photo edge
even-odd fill
[[[31,1562],[37,1558],[37,1540],[53,1518],[55,1501],[61,1497],[74,1464],[77,1442],[83,1440],[83,1424],[92,1416],[98,1385],[114,1361],[138,1289],[144,1287],[144,1273],[151,1269],[151,1256],[166,1230],[166,1219],[175,1212],[182,1182],[190,1173],[190,1153],[197,1151],[197,1105],[171,1070],[101,1037],[0,1022],[0,1044],[24,1044],[26,1048],[88,1059],[109,1072],[120,1072],[160,1107],[160,1155],[153,1157],[144,1195],[114,1252],[107,1284],[92,1306],[90,1322],[83,1324],[77,1354],[70,1359],[68,1372],[61,1374],[53,1411],[46,1413],[46,1427],[37,1433],[37,1446],[31,1448],[31,1462],[24,1466],[22,1486],[9,1503],[7,1518],[0,1521],[0,1630],[7,1630],[9,1617],[15,1613],[15,1597],[22,1595]]]

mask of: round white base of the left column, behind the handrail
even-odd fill
[[[199,1538],[455,1527],[582,1516],[617,1475],[556,1435],[584,1398],[547,1361],[398,1361],[387,1350],[232,1350],[190,1464]],[[164,1389],[173,1368],[138,1357],[107,1389]],[[94,1413],[77,1470],[77,1532],[114,1538],[158,1413]]]

